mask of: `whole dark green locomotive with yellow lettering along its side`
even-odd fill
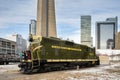
[[[64,69],[75,66],[99,65],[95,48],[59,38],[30,36],[29,50],[23,52],[19,67],[23,73],[33,70]]]

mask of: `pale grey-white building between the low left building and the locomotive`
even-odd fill
[[[8,40],[16,42],[16,54],[27,49],[27,41],[20,34],[13,34],[7,37]]]

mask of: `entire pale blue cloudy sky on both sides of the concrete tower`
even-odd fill
[[[80,17],[91,15],[92,37],[95,23],[118,16],[120,31],[120,0],[55,0],[57,37],[80,43]],[[21,34],[28,39],[31,19],[36,20],[37,0],[0,0],[0,37]]]

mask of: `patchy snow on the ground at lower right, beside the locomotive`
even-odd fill
[[[75,76],[69,76],[65,80],[120,80],[120,63],[67,73]]]

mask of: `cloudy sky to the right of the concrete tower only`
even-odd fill
[[[105,21],[106,18],[116,16],[118,16],[118,20],[120,19],[119,3],[118,0],[56,0],[59,35],[79,42],[80,40],[77,40],[80,39],[80,16],[91,15],[92,37],[95,40],[96,21]],[[118,25],[120,25],[120,20]],[[66,26],[68,28],[64,28]],[[78,33],[73,34],[74,31],[78,31]]]

